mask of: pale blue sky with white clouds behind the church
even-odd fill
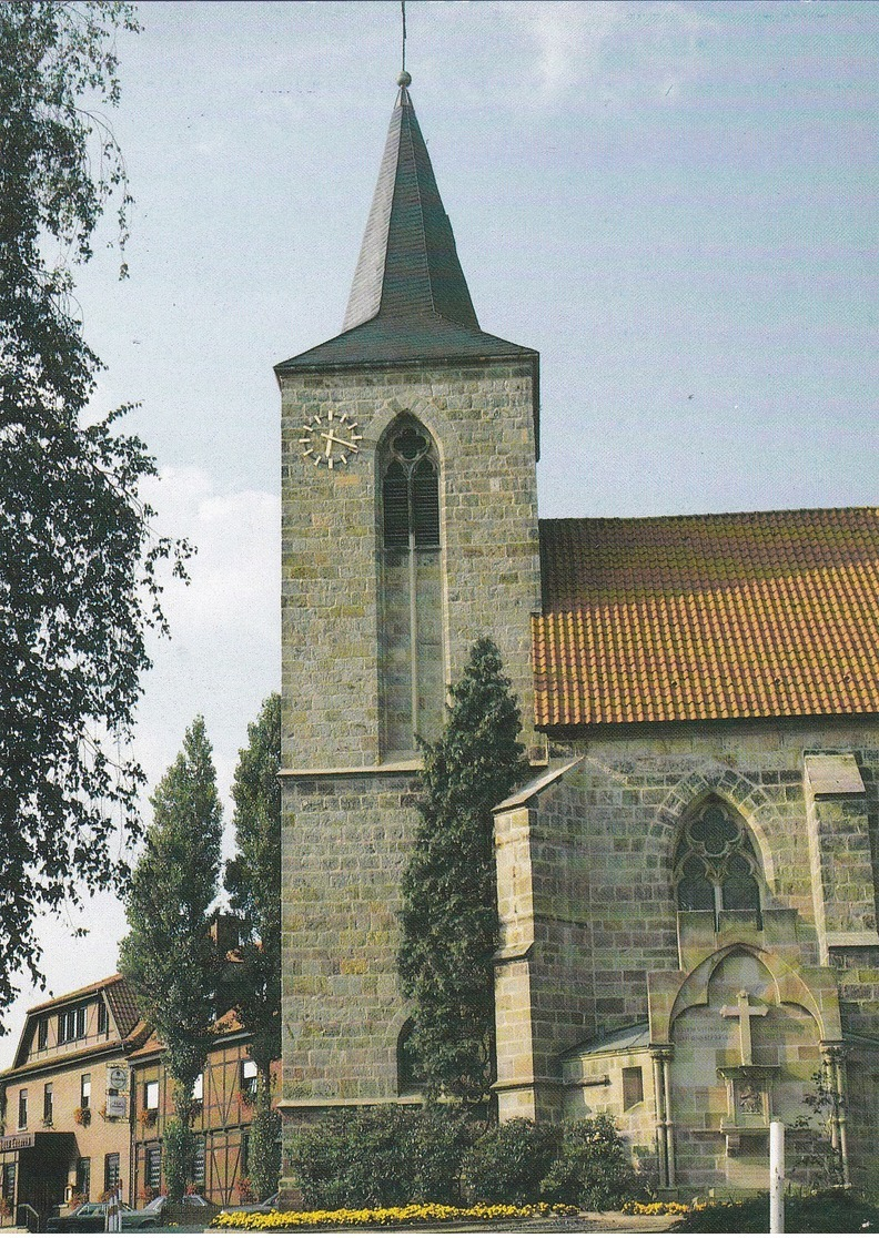
[[[272,366],[338,334],[396,97],[397,0],[141,4],[110,119],[119,282],[77,272],[95,410],[160,468],[171,583],[135,754],[203,713],[220,792],[280,686]],[[411,97],[483,329],[541,353],[542,516],[875,505],[879,6],[410,0]],[[149,813],[149,805],[145,805]],[[230,839],[227,839],[227,847]],[[88,930],[73,938],[73,930]],[[115,971],[104,895],[40,922],[61,994]],[[7,1065],[22,980],[0,1039]]]

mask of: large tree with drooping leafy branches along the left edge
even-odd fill
[[[16,972],[42,980],[35,915],[124,879],[116,829],[140,831],[125,750],[175,548],[139,498],[144,443],[119,412],[85,418],[100,361],[72,296],[114,196],[124,240],[98,111],[136,28],[128,4],[0,4],[0,1015]]]

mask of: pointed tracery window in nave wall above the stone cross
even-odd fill
[[[712,797],[685,825],[675,851],[678,911],[760,911],[760,867],[744,821]]]

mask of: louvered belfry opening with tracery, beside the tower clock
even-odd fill
[[[439,545],[439,470],[433,444],[414,417],[392,432],[381,498],[386,550]]]

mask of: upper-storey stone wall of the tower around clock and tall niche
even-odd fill
[[[439,449],[446,682],[490,634],[531,729],[529,614],[540,605],[530,365],[472,363],[282,379],[284,764],[378,765],[380,488],[375,447],[410,410]],[[347,412],[359,454],[302,456],[314,412]],[[542,750],[542,749],[541,749]]]

